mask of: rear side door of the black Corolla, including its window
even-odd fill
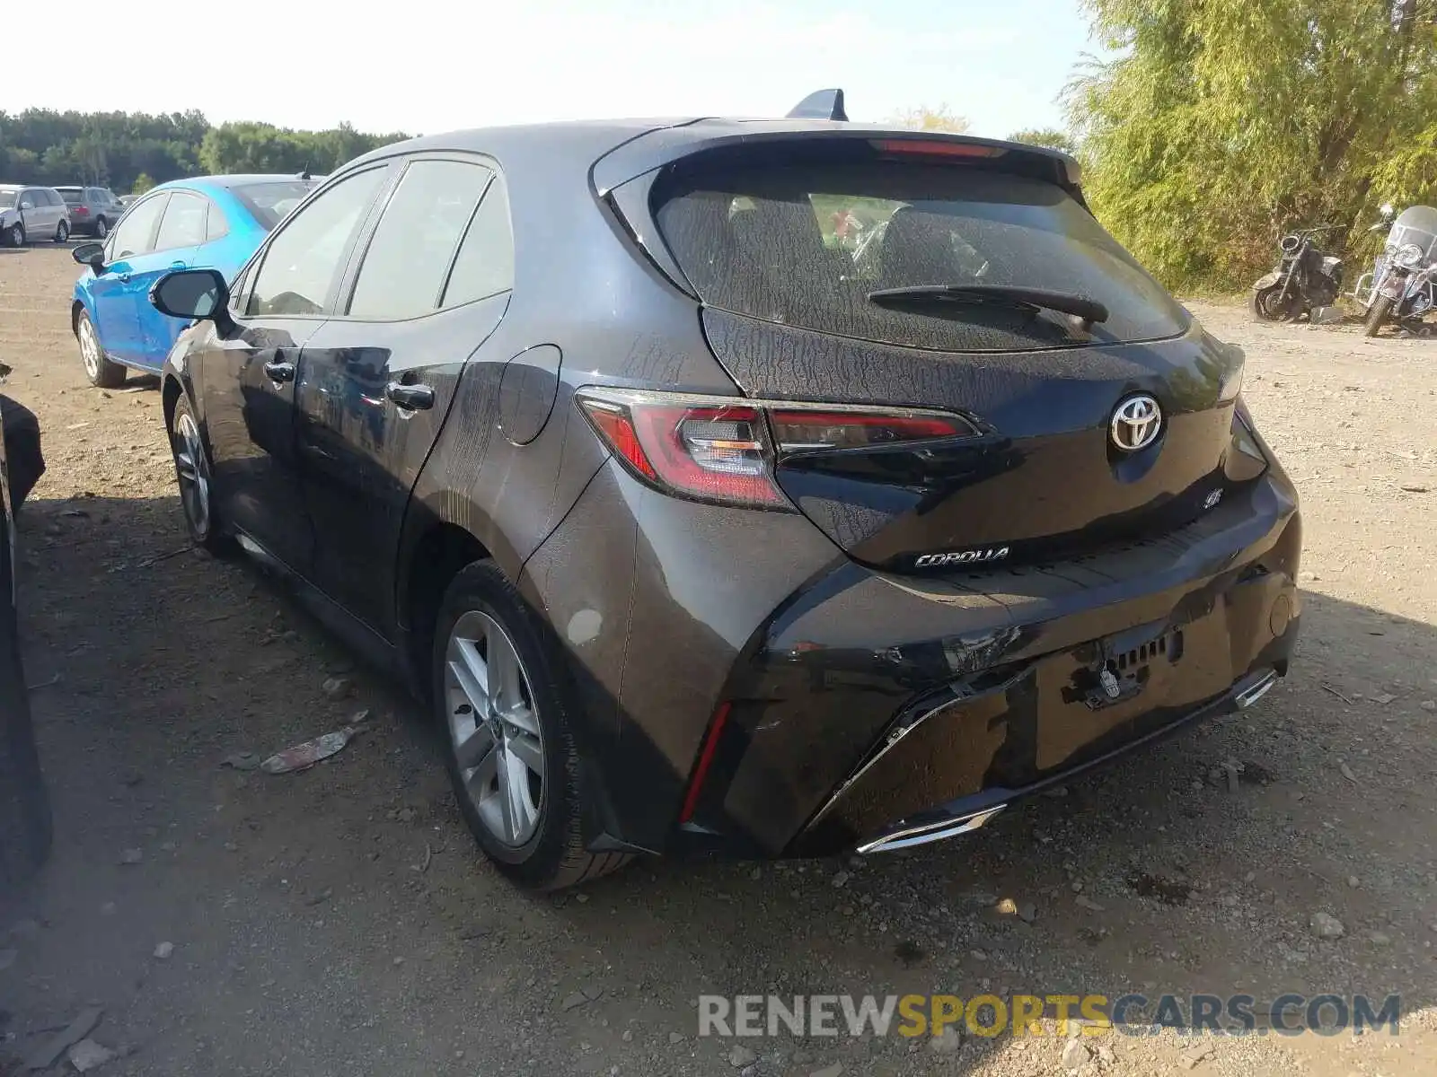
[[[489,257],[496,234],[499,283],[476,280],[476,254]],[[496,171],[477,157],[410,158],[362,248],[341,312],[305,345],[296,406],[315,582],[391,636],[410,493],[464,363],[507,306],[513,254]]]

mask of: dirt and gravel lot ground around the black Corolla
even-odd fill
[[[1017,1077],[1062,1073],[1065,1041],[736,1051],[696,1035],[696,998],[1400,992],[1397,1038],[1106,1034],[1068,1061],[1186,1073],[1206,1050],[1194,1073],[1437,1073],[1437,343],[1198,309],[1247,349],[1247,399],[1305,498],[1303,642],[1255,711],[973,840],[641,863],[536,900],[476,856],[414,709],[259,572],[187,550],[155,386],[88,388],[73,277],[63,250],[0,250],[0,360],[49,457],[22,602],[56,807],[52,864],[0,902],[0,1051],[99,1005],[93,1038],[119,1051],[106,1077]],[[326,696],[332,676],[348,698]],[[359,709],[366,732],[312,771],[221,765]],[[1342,938],[1318,938],[1315,912]]]

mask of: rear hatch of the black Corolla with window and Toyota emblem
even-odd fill
[[[769,402],[789,500],[855,560],[953,572],[1155,537],[1263,470],[1240,350],[1104,231],[1075,171],[835,126],[678,157],[612,201]]]

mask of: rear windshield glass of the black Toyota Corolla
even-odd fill
[[[833,162],[708,171],[658,227],[704,303],[825,333],[947,352],[1181,333],[1183,309],[1055,184],[971,167]],[[1002,300],[875,303],[879,289],[1017,286],[1098,300],[1108,320]]]

